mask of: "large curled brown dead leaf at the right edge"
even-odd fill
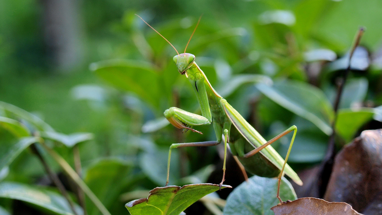
[[[365,130],[346,145],[335,158],[324,199],[362,211],[382,191],[381,151],[382,129]]]

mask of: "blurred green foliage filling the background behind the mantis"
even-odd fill
[[[61,31],[78,28],[73,35],[81,45],[66,41],[73,53],[79,53],[75,62],[60,62],[57,57],[66,43],[52,43],[65,42],[65,38],[49,39],[49,1],[0,1],[0,101],[29,111],[54,128],[49,132],[58,136],[53,133],[55,138],[47,138],[48,142],[74,138],[63,134],[94,134],[93,140],[78,145],[84,180],[113,214],[128,213],[120,194],[164,185],[171,143],[215,137],[209,127],[200,128],[204,135],[165,127],[161,117],[170,106],[200,110],[189,83],[172,62],[175,51],[134,13],[179,52],[202,15],[187,52],[196,56],[212,86],[266,139],[297,125],[290,156],[296,169],[319,162],[325,154],[336,81],[346,67],[344,59],[354,34],[364,26],[363,49],[354,55],[356,69],[340,104],[338,147],[361,129],[380,128],[381,108],[375,108],[382,105],[380,0],[66,2],[71,5],[66,16],[74,23],[55,27]],[[248,84],[240,78],[243,74],[267,75],[274,85],[268,89]],[[0,151],[16,142],[13,134],[25,135],[23,125],[31,134],[44,130],[29,126],[29,115],[23,113],[9,114],[2,108],[0,116],[6,118],[0,120],[2,127],[10,131],[0,130]],[[288,139],[275,145],[283,156]],[[54,146],[73,164],[70,146]],[[173,160],[179,162],[172,164],[170,183],[181,185],[205,182],[211,172],[207,165],[219,163],[221,148],[174,153]],[[217,169],[221,166],[217,164]],[[228,175],[229,168],[236,167],[228,167]],[[39,184],[44,175],[39,161],[24,150],[4,177],[0,172],[0,180]],[[230,184],[229,177],[226,183]],[[109,191],[112,196],[105,194]],[[0,199],[0,205],[11,210],[8,200]],[[89,214],[98,214],[91,203],[87,206]]]

